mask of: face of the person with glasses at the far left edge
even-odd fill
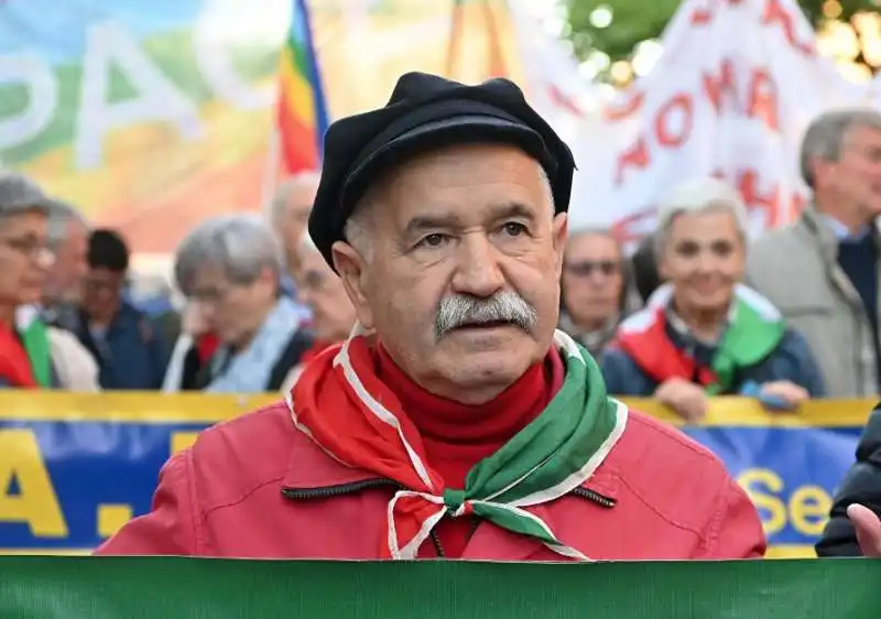
[[[0,300],[37,303],[53,257],[46,239],[46,216],[37,210],[0,219]]]

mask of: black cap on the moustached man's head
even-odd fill
[[[569,207],[569,148],[508,79],[466,86],[437,75],[401,76],[385,107],[341,118],[324,138],[324,165],[309,236],[327,263],[346,220],[379,175],[416,152],[467,142],[511,143],[542,165],[557,213]]]

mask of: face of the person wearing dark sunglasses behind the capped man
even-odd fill
[[[563,261],[563,297],[576,324],[600,326],[619,311],[621,250],[608,235],[570,237]]]

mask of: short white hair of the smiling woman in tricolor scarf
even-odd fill
[[[740,193],[718,178],[707,176],[686,181],[657,206],[657,230],[654,235],[654,249],[657,256],[664,250],[673,221],[683,214],[697,215],[708,211],[727,210],[735,218],[740,238],[746,241],[749,215]]]

